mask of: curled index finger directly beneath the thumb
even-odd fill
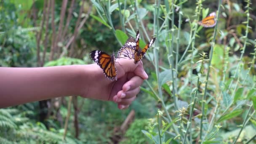
[[[129,91],[139,87],[143,83],[143,79],[139,76],[132,77],[128,82],[123,85],[123,91]]]

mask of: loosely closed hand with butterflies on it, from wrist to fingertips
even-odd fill
[[[117,81],[114,82],[104,76],[102,69],[97,64],[91,64],[90,67],[94,69],[94,72],[91,74],[92,77],[85,82],[89,85],[85,88],[82,96],[114,101],[118,104],[119,109],[129,107],[136,98],[136,94],[139,93],[143,80],[148,78],[142,62],[134,64],[133,61],[130,59],[116,60]]]

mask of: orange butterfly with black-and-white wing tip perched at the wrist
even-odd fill
[[[109,80],[117,80],[117,69],[115,67],[114,53],[110,56],[103,51],[92,51],[90,55],[91,59],[93,59],[93,61],[95,61],[101,67],[101,69],[103,69],[105,76]]]

